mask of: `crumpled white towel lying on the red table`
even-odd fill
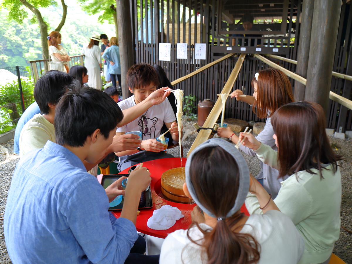
[[[176,220],[183,216],[181,210],[171,205],[164,205],[153,212],[151,218],[147,221],[147,226],[154,230],[166,230],[175,225]]]

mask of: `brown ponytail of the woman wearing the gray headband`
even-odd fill
[[[193,223],[188,231],[188,239],[202,247],[202,256],[207,256],[207,264],[251,264],[259,261],[259,244],[250,234],[233,231],[235,224],[243,218],[243,213],[236,213],[226,220],[218,220],[212,230],[203,230],[198,223]],[[203,233],[204,239],[198,244],[189,236],[189,230],[196,225]],[[240,226],[241,227],[241,226]]]

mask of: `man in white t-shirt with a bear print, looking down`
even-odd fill
[[[118,103],[121,110],[143,102],[159,86],[155,69],[146,63],[133,65],[127,72],[126,81],[133,95]],[[178,124],[168,98],[161,104],[153,105],[139,118],[116,130],[117,136],[128,131],[142,131],[141,147],[115,153],[120,157],[118,165],[120,171],[139,162],[173,157],[165,153],[162,143],[156,140],[161,134],[160,130],[164,123],[168,129],[171,128],[172,140],[178,141]]]

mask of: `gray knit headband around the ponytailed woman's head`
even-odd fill
[[[238,193],[237,193],[237,198],[235,201],[234,206],[232,207],[232,209],[227,213],[226,218],[232,216],[235,212],[237,212],[241,206],[243,205],[248,190],[249,190],[249,169],[248,169],[248,165],[244,159],[244,157],[242,156],[242,154],[239,152],[239,150],[237,150],[231,143],[223,140],[223,139],[209,139],[206,142],[204,142],[203,144],[200,144],[198,147],[196,147],[193,152],[191,153],[191,155],[187,158],[187,162],[186,162],[186,183],[187,183],[187,188],[188,191],[191,195],[191,197],[193,198],[193,200],[196,202],[196,204],[208,215],[210,215],[211,217],[216,217],[212,212],[210,212],[205,206],[203,206],[202,204],[200,204],[195,191],[194,191],[194,187],[193,184],[191,182],[190,176],[189,176],[189,170],[191,167],[191,163],[192,163],[192,158],[194,156],[194,154],[196,154],[197,152],[199,152],[200,150],[202,150],[203,148],[207,148],[207,147],[216,147],[219,146],[221,148],[223,148],[224,150],[226,150],[229,154],[231,154],[231,156],[234,158],[234,160],[237,162],[237,166],[239,169],[239,174],[240,174],[240,179],[239,179],[239,187],[238,187]],[[231,188],[231,186],[229,187]]]

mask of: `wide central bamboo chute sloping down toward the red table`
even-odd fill
[[[224,88],[221,91],[221,94],[228,94],[231,89],[233,88],[233,85],[237,79],[238,73],[241,70],[244,58],[245,58],[246,54],[241,54],[235,64],[235,67],[233,68],[230,77],[228,78],[227,82],[225,83]],[[203,124],[203,127],[214,127],[214,124],[216,123],[216,120],[218,120],[219,115],[221,113],[222,110],[222,102],[221,102],[221,97],[218,98],[218,100],[216,100],[216,103],[212,109],[212,111],[210,111],[210,114],[208,115],[207,120],[205,121],[205,123]],[[210,129],[201,129],[196,137],[196,139],[194,140],[191,148],[189,149],[188,153],[187,153],[187,157],[193,152],[193,150],[199,146],[200,144],[204,143],[205,141],[207,141],[209,139],[209,137],[211,136],[212,131]]]

